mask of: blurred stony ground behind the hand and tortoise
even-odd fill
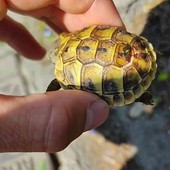
[[[129,32],[146,37],[158,52],[158,72],[150,87],[155,105],[133,103],[110,110],[108,120],[57,153],[61,170],[170,169],[170,1],[114,0]],[[57,34],[33,18],[9,13],[47,50]],[[0,93],[43,93],[54,78],[48,57],[31,61],[0,42]],[[45,153],[0,154],[0,170],[53,169]]]

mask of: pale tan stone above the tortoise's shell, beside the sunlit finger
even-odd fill
[[[164,0],[114,0],[129,32],[140,34],[146,24],[148,13]]]

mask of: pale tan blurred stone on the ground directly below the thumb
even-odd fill
[[[95,131],[86,132],[59,152],[60,170],[121,170],[137,153],[128,143],[115,144]]]

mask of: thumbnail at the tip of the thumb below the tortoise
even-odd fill
[[[92,102],[87,108],[85,131],[96,128],[101,125],[108,116],[109,107],[103,100]]]

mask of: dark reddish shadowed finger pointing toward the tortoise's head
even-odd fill
[[[0,40],[7,42],[27,58],[41,59],[45,55],[45,49],[36,42],[25,27],[9,17],[0,21]]]

